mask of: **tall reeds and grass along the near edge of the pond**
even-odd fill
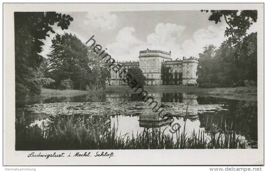
[[[16,150],[68,150],[68,149],[214,149],[245,148],[245,143],[233,131],[210,132],[203,130],[186,133],[177,130],[165,135],[164,130],[144,129],[134,135],[121,135],[113,124],[108,130],[93,128],[87,120],[74,122],[73,116],[57,117],[45,127],[25,124],[24,113],[16,116]]]

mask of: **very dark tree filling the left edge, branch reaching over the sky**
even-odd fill
[[[53,24],[68,29],[72,20],[70,15],[56,12],[14,12],[16,98],[40,93],[43,57],[38,53],[42,52],[42,40],[49,31],[55,33]]]

